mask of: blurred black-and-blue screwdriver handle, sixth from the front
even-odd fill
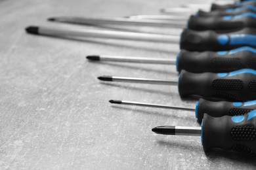
[[[188,28],[196,31],[211,30],[232,30],[243,27],[256,28],[256,14],[245,12],[244,14],[228,16],[190,16],[188,19]]]

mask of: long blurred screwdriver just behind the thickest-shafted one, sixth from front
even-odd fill
[[[228,16],[190,16],[187,22],[188,29],[196,31],[205,30],[232,30],[243,27],[256,28],[256,14],[253,12],[245,12],[238,15]],[[153,27],[175,27],[184,28],[186,26],[184,21],[177,20],[131,20],[129,18],[83,18],[83,17],[54,17],[49,18],[52,22],[64,22],[69,24],[80,25],[144,25]],[[235,24],[234,24],[235,23]]]

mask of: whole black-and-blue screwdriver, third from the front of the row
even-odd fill
[[[145,84],[176,85],[181,97],[202,97],[228,101],[256,99],[256,71],[240,69],[230,73],[190,73],[181,71],[179,81],[121,76],[99,76],[99,80]]]

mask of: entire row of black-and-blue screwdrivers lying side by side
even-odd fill
[[[100,62],[133,62],[176,65],[174,80],[125,76],[98,76],[108,82],[134,82],[178,86],[181,98],[198,99],[195,108],[110,100],[112,104],[136,105],[195,112],[201,127],[157,126],[154,133],[201,136],[203,149],[222,148],[256,156],[256,1],[227,5],[212,4],[210,10],[183,8],[177,12],[162,9],[163,15],[124,18],[83,18],[60,16],[51,22],[79,25],[136,25],[182,29],[181,35],[96,30],[79,27],[29,26],[28,33],[66,38],[97,37],[179,43],[176,59],[135,56],[90,55]],[[182,12],[184,11],[184,12]],[[190,12],[196,12],[186,16]],[[188,19],[186,24],[185,18]],[[93,63],[92,63],[93,64]]]

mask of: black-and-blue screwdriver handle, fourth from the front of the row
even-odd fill
[[[238,69],[256,69],[256,49],[248,46],[230,51],[190,52],[177,55],[177,71],[222,73]]]

